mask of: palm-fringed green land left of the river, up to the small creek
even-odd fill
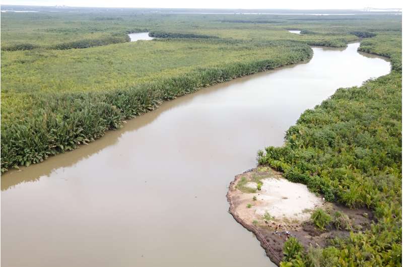
[[[244,47],[233,49],[239,45]],[[168,48],[169,53],[155,53],[155,49]],[[186,50],[191,53],[183,60]],[[128,51],[130,58],[125,54]],[[2,53],[3,64],[10,65],[8,73],[2,75],[2,173],[76,149],[102,137],[109,129],[121,127],[124,120],[154,110],[163,101],[312,56],[312,49],[299,42],[210,39],[160,40],[86,51],[42,52],[48,56],[38,57],[33,50],[28,52],[32,54],[25,56],[25,60],[32,59],[32,62],[24,66],[24,72],[15,59],[26,51]],[[88,60],[72,61],[78,53]],[[115,67],[104,68],[109,61]],[[91,68],[90,62],[100,69]],[[60,82],[55,83],[53,74],[46,70],[59,68],[70,69],[75,78],[70,72],[61,71],[57,75]],[[25,78],[26,72],[32,74],[30,79]],[[27,84],[16,82],[20,80]],[[24,92],[33,83],[41,90]]]

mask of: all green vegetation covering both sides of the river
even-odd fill
[[[339,89],[305,111],[285,145],[258,152],[258,161],[326,201],[375,214],[365,233],[356,229],[329,247],[303,251],[290,238],[282,265],[400,264],[401,16],[83,9],[2,13],[1,30],[2,172],[91,142],[162,101],[305,60],[308,44],[343,47],[366,38],[359,49],[390,57],[391,74]],[[128,42],[127,33],[145,31],[161,39]],[[256,192],[247,182],[242,177],[237,188]],[[333,223],[349,227],[343,215]]]

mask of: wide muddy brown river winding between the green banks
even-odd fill
[[[301,112],[389,62],[313,47],[310,61],[163,103],[1,184],[2,266],[271,266],[227,212],[234,175]]]

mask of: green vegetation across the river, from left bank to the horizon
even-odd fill
[[[401,30],[392,15],[318,22],[102,11],[2,14],[2,172],[75,149],[162,101],[307,59],[306,44],[345,46],[357,32]],[[161,39],[128,42],[127,33],[144,31]]]

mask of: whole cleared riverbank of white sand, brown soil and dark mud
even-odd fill
[[[236,175],[230,183],[227,200],[230,214],[256,236],[266,255],[277,265],[283,259],[287,232],[308,250],[324,247],[337,237],[346,238],[350,229],[365,231],[373,219],[368,209],[350,210],[325,202],[305,185],[289,182],[280,172],[264,166]],[[324,230],[318,229],[311,221],[315,209],[345,214],[349,228],[329,225]]]

